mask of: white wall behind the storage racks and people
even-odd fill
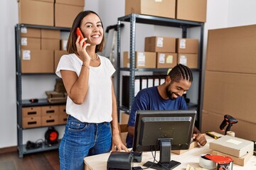
[[[203,56],[206,57],[207,33],[209,29],[226,28],[231,26],[243,26],[256,24],[255,0],[208,0],[207,22],[205,24]],[[97,12],[103,21],[105,28],[117,24],[117,18],[124,16],[124,0],[86,0],[85,9]],[[18,23],[17,1],[1,0],[0,6],[0,148],[17,145],[16,132],[16,67],[15,67],[15,39],[14,26]],[[144,37],[147,35],[168,36],[169,28],[137,25],[136,49],[144,49]],[[169,30],[170,31],[170,30]],[[171,30],[175,32],[176,30]],[[172,33],[171,33],[172,34]],[[129,25],[124,26],[122,33],[122,50],[129,50]],[[50,89],[54,84],[38,84],[38,89]],[[25,88],[25,87],[24,87]],[[42,96],[43,93],[33,89],[26,89],[23,94],[27,98]],[[43,90],[45,91],[45,90]],[[37,94],[38,93],[38,94]],[[23,140],[34,137],[34,140],[43,138],[46,129],[28,130]],[[61,131],[61,130],[60,130]]]

